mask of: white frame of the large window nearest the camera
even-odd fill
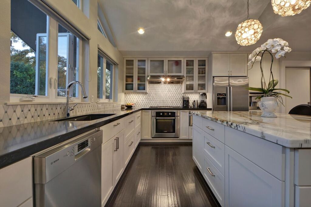
[[[32,1],[29,1],[31,4],[33,4],[37,9],[39,9],[40,11],[42,11],[46,16],[47,16],[47,33],[46,33],[46,44],[47,44],[47,51],[46,51],[46,82],[45,82],[45,90],[46,90],[46,96],[42,96],[42,95],[29,95],[29,94],[14,94],[14,93],[10,93],[10,102],[9,103],[19,103],[19,104],[31,104],[31,103],[38,103],[38,102],[47,102],[47,103],[53,103],[53,102],[57,102],[57,103],[63,103],[66,102],[66,97],[58,97],[57,96],[57,85],[58,85],[58,80],[57,80],[57,72],[58,72],[58,24],[59,21],[56,19],[54,19],[52,16],[50,15],[49,12],[45,12],[43,11],[40,7],[38,7],[38,5],[36,5],[35,3],[33,3]],[[81,5],[81,0],[79,1],[80,5]],[[62,24],[61,24],[62,25]],[[63,25],[62,25],[63,26]],[[68,29],[67,27],[63,26],[64,28],[66,28],[68,31],[70,31],[70,29]],[[77,41],[77,80],[81,82],[81,65],[82,65],[82,42],[84,41],[84,38],[80,37],[79,35],[77,35],[75,32],[70,31],[70,33],[72,35],[75,35],[78,39]],[[42,33],[38,33],[39,35],[42,35]],[[37,34],[37,36],[38,36]],[[69,33],[68,33],[69,34]],[[37,39],[37,37],[36,37]],[[68,38],[70,39],[70,38]],[[52,41],[51,41],[52,40]],[[69,40],[68,40],[69,41]],[[37,46],[36,46],[37,47]],[[68,49],[69,50],[69,49]],[[68,55],[67,51],[67,55]],[[73,55],[73,53],[71,54]],[[74,59],[72,58],[72,61]],[[38,86],[37,82],[39,81],[39,79],[37,79],[37,76],[39,76],[39,73],[37,73],[37,70],[39,69],[37,67],[38,63],[37,63],[37,55],[36,55],[36,86],[35,86],[35,94],[38,94]],[[67,66],[68,66],[68,61],[67,61]],[[89,70],[89,69],[86,69]],[[71,75],[73,75],[73,73],[71,73]],[[68,85],[68,75],[66,75],[66,85]],[[76,87],[76,93],[77,93],[77,97],[72,97],[70,98],[71,102],[81,102],[81,89],[80,87]],[[35,97],[34,101],[20,101],[21,97],[26,97],[26,96],[30,96],[30,97]]]

